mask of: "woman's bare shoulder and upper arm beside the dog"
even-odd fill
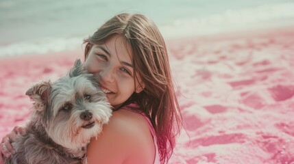
[[[147,121],[125,109],[114,111],[103,132],[88,146],[88,163],[153,163],[154,141]]]

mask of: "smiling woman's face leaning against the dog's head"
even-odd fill
[[[138,83],[140,79],[135,86],[132,51],[122,36],[112,36],[104,44],[93,45],[85,68],[94,74],[114,108],[119,107],[135,91],[143,90]]]

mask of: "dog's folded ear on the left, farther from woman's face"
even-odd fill
[[[25,95],[29,96],[34,101],[35,109],[41,111],[48,104],[49,94],[51,92],[50,81],[40,81],[35,83]]]

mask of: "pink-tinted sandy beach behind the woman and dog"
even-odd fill
[[[170,163],[294,163],[294,28],[167,42],[186,131]],[[0,61],[0,138],[82,50]]]

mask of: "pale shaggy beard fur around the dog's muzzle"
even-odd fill
[[[52,121],[49,121],[46,131],[56,143],[69,148],[78,150],[86,146],[92,137],[102,131],[103,124],[110,118],[110,109],[107,102],[88,103],[86,109],[93,113],[93,118],[89,121],[80,118],[84,110],[72,109],[72,113],[60,112]],[[75,108],[75,107],[74,107]],[[91,128],[83,128],[86,124],[95,122]]]

